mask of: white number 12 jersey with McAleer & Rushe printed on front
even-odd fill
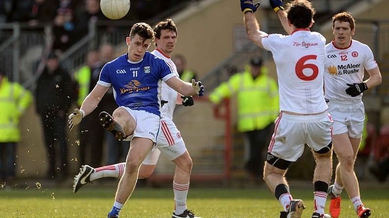
[[[377,67],[373,52],[357,40],[351,40],[347,48],[337,48],[335,40],[325,46],[326,61],[324,68],[325,98],[339,101],[361,101],[362,94],[351,97],[346,94],[347,83],[363,82],[365,69]]]

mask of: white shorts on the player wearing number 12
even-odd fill
[[[328,112],[334,120],[333,134],[347,133],[350,138],[362,137],[365,122],[365,106],[362,101],[343,102],[330,100]]]

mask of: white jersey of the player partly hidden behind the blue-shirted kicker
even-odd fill
[[[165,56],[160,52],[160,50],[156,49],[151,52],[151,54],[164,59],[173,69],[173,74],[177,77],[180,77],[177,72],[176,64],[170,59],[170,57]],[[177,100],[177,91],[170,88],[165,82],[161,84],[161,117],[168,117],[173,119],[173,112],[176,108],[176,100]]]

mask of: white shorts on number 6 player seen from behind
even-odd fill
[[[305,144],[314,151],[332,140],[331,115],[296,116],[280,113],[275,119],[275,132],[268,152],[277,158],[295,162],[304,152]]]

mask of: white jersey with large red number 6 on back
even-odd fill
[[[297,29],[289,36],[270,34],[262,45],[275,61],[280,111],[315,114],[327,109],[323,93],[325,38]]]

